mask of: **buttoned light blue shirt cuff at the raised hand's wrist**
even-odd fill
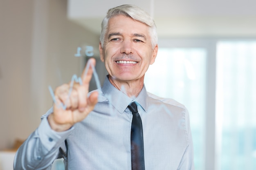
[[[52,130],[47,120],[47,117],[45,117],[45,119],[42,119],[37,130],[40,141],[42,142],[43,146],[45,146],[45,148],[49,151],[55,147],[60,147],[65,139],[68,137],[68,135],[70,135],[73,129],[74,127],[63,132],[56,132]]]

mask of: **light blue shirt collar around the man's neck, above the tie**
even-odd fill
[[[124,113],[124,110],[126,110],[127,106],[133,101],[137,102],[145,111],[147,110],[148,94],[146,92],[145,86],[143,86],[139,95],[135,99],[132,99],[128,97],[124,92],[115,88],[110,83],[108,76],[106,76],[101,89],[103,95],[108,99],[110,104],[112,104],[120,113]]]

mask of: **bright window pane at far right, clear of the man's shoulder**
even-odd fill
[[[217,44],[218,170],[256,169],[256,41]]]

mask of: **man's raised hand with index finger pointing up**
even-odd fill
[[[93,110],[97,104],[98,92],[94,91],[88,97],[89,83],[92,78],[95,59],[88,60],[87,66],[81,76],[82,84],[74,82],[70,92],[71,82],[58,86],[54,91],[55,104],[53,113],[48,116],[51,128],[55,131],[65,131],[71,128],[75,123],[82,121]],[[86,73],[85,73],[86,72]],[[61,107],[61,103],[66,108]]]

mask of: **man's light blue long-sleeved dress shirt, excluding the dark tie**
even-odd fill
[[[145,86],[136,98],[130,98],[112,86],[108,77],[94,110],[70,130],[52,130],[46,119],[52,109],[48,110],[19,148],[14,170],[50,169],[61,156],[67,170],[131,170],[132,113],[127,106],[133,101],[143,125],[145,169],[194,170],[186,108],[173,99],[148,93]]]

